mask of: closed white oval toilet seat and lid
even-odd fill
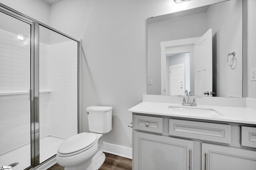
[[[64,141],[59,149],[58,156],[68,157],[90,149],[97,142],[97,135],[92,133],[79,133]]]

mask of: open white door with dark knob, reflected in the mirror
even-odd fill
[[[196,41],[195,52],[195,94],[212,96],[212,29]],[[204,92],[209,92],[204,94]]]

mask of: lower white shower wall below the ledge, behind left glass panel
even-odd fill
[[[30,142],[28,94],[0,96],[0,155]]]

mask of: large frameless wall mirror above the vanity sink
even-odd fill
[[[147,93],[242,97],[242,14],[229,0],[148,18]]]

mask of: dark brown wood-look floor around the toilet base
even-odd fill
[[[132,170],[132,160],[114,154],[105,153],[106,159],[99,170]],[[64,170],[58,163],[48,170]]]

